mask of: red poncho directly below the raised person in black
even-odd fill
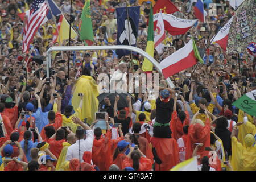
[[[151,137],[151,143],[162,161],[155,163],[155,171],[169,171],[179,163],[179,146],[175,139]]]

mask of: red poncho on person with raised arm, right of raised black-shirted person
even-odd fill
[[[203,147],[199,147],[197,150],[197,155],[200,155],[204,152],[204,147],[210,146],[210,119],[205,120],[205,126],[202,126],[200,123],[195,123],[189,126],[188,137],[186,143],[186,159],[192,157],[193,150],[195,149],[195,143],[203,143]]]

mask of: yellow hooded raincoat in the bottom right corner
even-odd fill
[[[245,136],[245,144],[238,142],[232,137],[232,158],[231,165],[234,171],[256,171],[256,146],[252,134]]]

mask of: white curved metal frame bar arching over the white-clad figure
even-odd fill
[[[57,47],[51,47],[48,49],[46,52],[46,76],[47,78],[49,77],[49,67],[51,67],[51,52],[52,51],[86,51],[86,50],[108,50],[108,49],[123,49],[123,50],[129,50],[129,51],[134,51],[142,56],[146,57],[158,71],[162,73],[162,70],[159,67],[159,63],[151,57],[147,52],[143,51],[140,48],[133,47],[133,46],[57,46]],[[167,84],[171,87],[174,88],[174,84],[172,83],[170,78],[166,79]]]

